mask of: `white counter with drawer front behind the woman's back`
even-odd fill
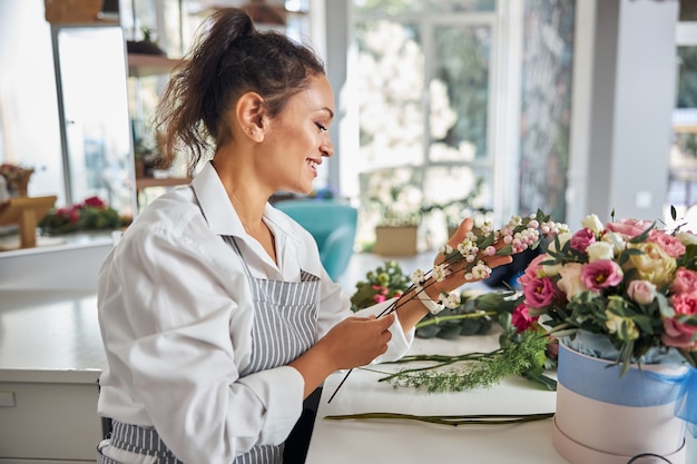
[[[0,290],[0,464],[95,462],[106,356],[90,290]]]

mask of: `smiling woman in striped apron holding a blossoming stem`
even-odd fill
[[[143,211],[98,277],[99,413],[114,421],[100,462],[281,463],[303,399],[336,369],[402,356],[428,313],[413,299],[353,315],[312,236],[267,203],[308,192],[334,152],[320,60],[242,10],[205,26],[158,119],[165,152],[204,166]]]

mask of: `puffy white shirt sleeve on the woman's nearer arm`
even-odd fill
[[[229,464],[287,437],[304,384],[287,366],[240,378],[236,344],[251,324],[251,312],[239,310],[251,304],[246,276],[223,278],[210,245],[190,236],[158,227],[121,240],[100,276],[102,322],[111,323],[105,346],[110,368],[130,376],[132,402],[181,461]]]

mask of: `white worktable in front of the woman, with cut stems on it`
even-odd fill
[[[458,354],[490,351],[498,335],[458,340],[416,339],[411,354]],[[377,366],[389,369],[393,367]],[[556,393],[522,378],[491,389],[457,394],[425,394],[393,389],[380,374],[354,371],[338,394],[327,399],[344,373],[324,384],[306,464],[454,463],[565,464],[553,448],[552,419],[516,425],[433,425],[395,419],[330,421],[326,415],[392,412],[415,415],[529,414],[554,411]]]

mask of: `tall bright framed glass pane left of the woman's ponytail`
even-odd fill
[[[67,204],[98,196],[135,209],[124,34],[116,26],[56,27],[53,56]]]

